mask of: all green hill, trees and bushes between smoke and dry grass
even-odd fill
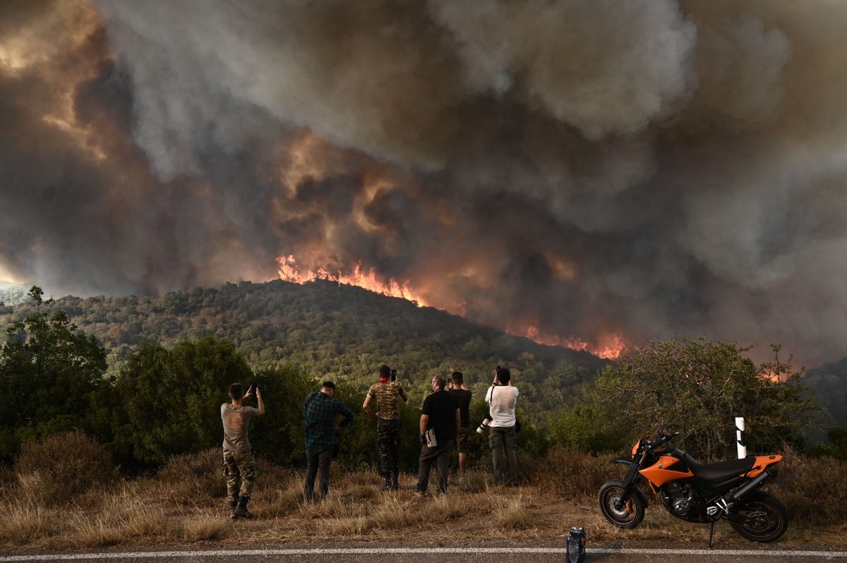
[[[521,392],[518,445],[532,459],[551,447],[620,450],[633,434],[670,426],[684,429],[689,451],[720,459],[734,447],[725,439],[734,436],[734,421],[725,415],[737,405],[758,422],[750,444],[762,451],[797,448],[815,415],[790,364],[775,358],[756,367],[738,345],[706,339],[652,343],[609,365],[326,281],[226,284],[160,299],[45,300],[38,287],[29,295],[0,315],[0,385],[5,395],[20,397],[0,408],[5,464],[24,444],[81,430],[122,471],[155,470],[172,455],[219,443],[217,409],[237,380],[259,385],[274,405],[257,422],[254,446],[270,461],[298,466],[303,398],[332,378],[340,384],[338,398],[359,411],[383,363],[397,368],[411,397],[401,406],[406,428],[418,422],[432,374],[466,373],[476,423],[487,409],[482,397],[495,367],[510,367]],[[841,455],[841,434],[830,434],[831,447],[821,452]],[[344,432],[346,463],[370,466],[373,438],[373,422],[357,417]],[[473,458],[484,463],[484,437],[473,433],[471,442]],[[417,446],[404,443],[408,467]]]

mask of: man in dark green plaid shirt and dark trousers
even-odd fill
[[[306,484],[303,494],[306,502],[312,502],[315,477],[318,476],[320,498],[329,494],[329,466],[332,464],[333,449],[337,441],[335,432],[353,422],[353,411],[340,400],[333,399],[335,384],[324,381],[320,393],[310,393],[306,398],[303,416],[306,417]],[[336,425],[335,418],[341,422]]]

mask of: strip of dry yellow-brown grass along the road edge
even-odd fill
[[[224,500],[218,452],[182,457],[156,477],[137,478],[103,489],[79,504],[42,503],[31,483],[0,488],[0,549],[94,549],[102,546],[191,544],[285,544],[326,541],[479,542],[498,530],[498,539],[561,542],[573,525],[586,528],[592,544],[673,539],[706,545],[709,529],[668,516],[651,499],[645,522],[620,530],[602,519],[596,490],[620,470],[606,459],[552,452],[533,468],[533,484],[501,488],[485,472],[470,472],[451,483],[448,494],[418,498],[415,477],[401,476],[401,490],[379,491],[375,472],[343,472],[334,467],[329,499],[302,502],[302,472],[259,464],[252,521],[232,521]],[[843,465],[796,458],[785,464],[778,494],[792,512],[787,544],[826,544],[847,548]],[[185,471],[180,471],[180,467]],[[609,470],[612,467],[612,471]],[[840,476],[840,477],[839,477]],[[839,480],[840,479],[840,480]],[[837,490],[840,488],[840,490]],[[433,484],[430,492],[434,491]],[[817,496],[828,495],[823,516]],[[716,542],[749,546],[725,522]]]

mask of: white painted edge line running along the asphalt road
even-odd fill
[[[108,560],[108,559],[142,559],[181,557],[232,557],[233,555],[415,555],[415,554],[562,554],[564,548],[292,548],[292,549],[211,549],[201,551],[131,551],[115,553],[75,553],[75,554],[34,554],[34,555],[0,555],[4,561],[73,561],[73,560]],[[791,557],[845,557],[847,551],[805,551],[799,549],[641,549],[641,548],[591,548],[585,549],[586,555],[722,555],[745,556],[758,555],[762,557],[791,556]]]

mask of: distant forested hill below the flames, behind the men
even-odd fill
[[[24,317],[30,304],[6,306],[0,324]],[[315,378],[354,386],[374,382],[379,365],[427,390],[431,373],[460,370],[475,391],[490,384],[497,365],[512,368],[528,414],[569,402],[605,362],[587,352],[538,345],[462,317],[410,301],[329,281],[242,282],[197,288],[161,298],[67,296],[48,304],[91,334],[116,371],[145,342],[172,345],[205,335],[230,339],[254,369],[291,362]]]

